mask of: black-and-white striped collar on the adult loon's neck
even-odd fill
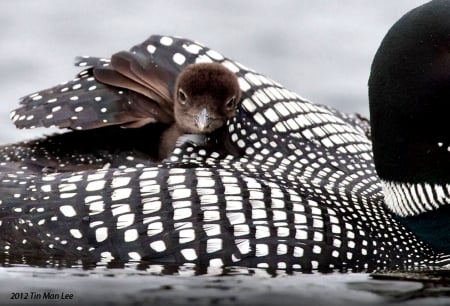
[[[381,180],[384,200],[400,217],[416,216],[450,204],[450,184],[403,183]]]

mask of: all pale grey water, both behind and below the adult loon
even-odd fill
[[[367,78],[382,37],[424,2],[2,1],[0,143],[50,133],[18,131],[8,113],[20,96],[72,78],[76,55],[108,56],[156,33],[200,41],[312,101],[367,115]],[[445,288],[428,297],[420,282],[376,281],[368,274],[161,270],[14,264],[0,269],[0,304],[450,305]],[[73,299],[31,300],[32,292],[65,292]],[[13,293],[29,298],[11,300]]]

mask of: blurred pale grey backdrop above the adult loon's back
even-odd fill
[[[372,57],[390,26],[423,0],[0,2],[0,144],[17,99],[71,79],[76,55],[109,56],[152,34],[202,42],[300,95],[368,114]]]

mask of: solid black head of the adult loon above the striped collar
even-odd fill
[[[389,30],[372,64],[375,165],[384,180],[450,182],[450,1],[435,0]]]

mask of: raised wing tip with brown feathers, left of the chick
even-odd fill
[[[18,128],[57,126],[81,130],[173,122],[171,95],[185,65],[173,60],[181,45],[164,47],[160,40],[161,36],[152,36],[130,52],[118,52],[111,59],[77,58],[75,64],[88,69],[71,81],[23,97],[22,106],[11,112],[14,124]],[[149,49],[150,44],[163,47],[155,51]]]

